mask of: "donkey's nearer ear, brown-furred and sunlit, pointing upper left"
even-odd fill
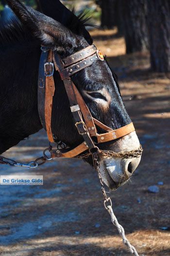
[[[67,47],[76,46],[76,35],[51,17],[41,14],[19,0],[7,0],[9,7],[20,21],[37,37],[44,46]]]

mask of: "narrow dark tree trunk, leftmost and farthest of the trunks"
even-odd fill
[[[102,8],[102,24],[103,28],[111,29],[115,26],[115,6],[116,0],[102,0],[101,3]]]

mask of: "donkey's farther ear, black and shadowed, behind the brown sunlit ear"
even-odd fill
[[[92,44],[93,40],[85,29],[83,22],[73,12],[60,2],[60,0],[39,0],[43,13],[66,26],[74,34],[84,36]]]

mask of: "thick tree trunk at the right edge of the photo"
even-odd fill
[[[148,0],[151,68],[170,72],[170,0]]]

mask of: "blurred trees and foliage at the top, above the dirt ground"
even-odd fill
[[[25,4],[41,11],[39,0]],[[153,71],[170,72],[170,1],[169,0],[62,0],[76,13],[85,11],[93,24],[117,29],[125,39],[126,53],[150,51]],[[1,16],[6,2],[0,0]]]

